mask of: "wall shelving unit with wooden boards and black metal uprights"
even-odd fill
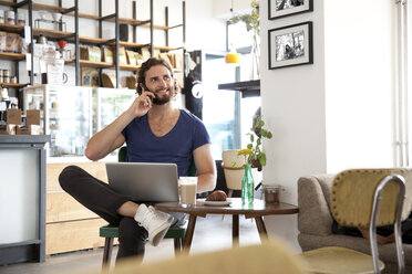
[[[166,17],[166,25],[155,25],[153,24],[153,0],[151,1],[151,19],[150,20],[137,20],[135,19],[128,19],[128,18],[120,18],[119,17],[119,0],[115,1],[115,12],[113,14],[109,15],[94,15],[94,14],[86,14],[86,13],[80,13],[79,8],[78,8],[78,1],[74,0],[74,7],[73,8],[63,8],[63,7],[55,7],[55,6],[50,6],[50,4],[42,4],[42,3],[34,3],[33,0],[28,0],[24,2],[10,2],[10,1],[4,1],[0,0],[0,6],[6,6],[10,7],[14,10],[17,9],[28,9],[29,10],[29,21],[32,19],[31,12],[34,10],[45,10],[49,12],[60,12],[63,13],[64,15],[71,15],[75,18],[75,31],[74,32],[64,32],[64,31],[58,31],[58,30],[49,30],[49,29],[41,29],[41,28],[33,28],[32,29],[32,36],[38,38],[39,35],[44,35],[50,40],[66,40],[68,42],[74,43],[75,44],[75,54],[76,56],[73,60],[65,60],[68,64],[75,64],[75,73],[76,73],[76,85],[80,84],[80,67],[95,67],[95,68],[114,68],[116,71],[116,83],[120,83],[119,80],[119,72],[120,71],[132,71],[135,72],[138,70],[140,66],[136,65],[123,65],[123,64],[117,64],[116,61],[114,64],[105,63],[105,62],[91,62],[86,60],[80,60],[79,55],[79,44],[84,43],[84,44],[91,44],[91,45],[97,45],[97,46],[103,46],[103,45],[110,45],[113,46],[115,50],[113,51],[114,55],[119,54],[119,48],[124,46],[126,49],[131,50],[136,50],[141,49],[143,46],[150,46],[152,54],[154,53],[154,50],[159,50],[161,52],[168,52],[168,51],[175,51],[175,50],[183,50],[183,54],[185,53],[184,46],[179,48],[171,48],[168,46],[168,30],[175,29],[175,28],[183,28],[183,45],[185,44],[185,2],[183,1],[183,23],[178,25],[168,25],[168,9],[167,7],[165,8],[165,17]],[[134,3],[134,14],[136,13],[136,4]],[[101,39],[101,38],[87,38],[87,36],[79,36],[79,18],[84,18],[84,19],[90,19],[90,20],[96,20],[100,22],[114,22],[115,23],[115,29],[116,29],[116,35],[112,40],[107,39]],[[136,28],[138,27],[144,27],[144,28],[150,28],[151,29],[151,43],[148,44],[142,44],[142,43],[136,43],[136,42],[124,42],[120,41],[120,34],[119,34],[119,24],[127,24],[133,27],[134,33]],[[29,24],[31,25],[31,23]],[[100,23],[101,25],[101,23]],[[100,27],[101,28],[101,27]],[[166,35],[166,45],[164,46],[158,46],[154,45],[153,43],[153,30],[158,29],[165,31]],[[23,34],[24,32],[24,27],[21,25],[10,25],[10,24],[4,24],[0,23],[0,30],[1,31],[7,31],[7,32],[13,32],[13,33],[20,33]],[[101,33],[101,31],[100,31]],[[135,35],[134,35],[135,39]],[[33,49],[31,49],[33,50]],[[17,54],[17,53],[6,53],[6,52],[0,52],[0,60],[7,60],[7,61],[22,61],[25,59],[24,54]],[[33,62],[33,61],[32,61]],[[178,70],[175,70],[178,71]],[[31,77],[31,84],[33,84],[33,78]],[[22,84],[23,86],[27,84]]]

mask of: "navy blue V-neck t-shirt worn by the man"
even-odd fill
[[[210,144],[203,122],[184,109],[181,109],[176,125],[162,137],[152,133],[147,114],[133,119],[122,134],[127,144],[127,161],[174,162],[177,165],[178,176],[187,176],[193,151]]]

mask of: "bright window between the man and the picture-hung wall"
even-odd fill
[[[239,92],[218,89],[218,84],[249,80],[253,34],[245,23],[227,23],[227,44],[234,44],[241,54],[241,65],[225,63],[225,53],[204,53],[202,82],[204,85],[203,122],[209,131],[213,156],[222,159],[222,151],[240,149],[250,140],[253,116],[260,107],[260,97],[241,98]]]

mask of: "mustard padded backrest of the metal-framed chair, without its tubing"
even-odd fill
[[[412,170],[411,169],[352,169],[338,173],[332,183],[330,202],[333,218],[344,226],[368,228],[372,212],[374,191],[382,179],[389,175],[401,175],[406,183],[406,199],[402,220],[411,211]],[[382,191],[377,225],[395,222],[399,187],[390,181]]]

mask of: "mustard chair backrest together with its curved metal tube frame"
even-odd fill
[[[411,212],[412,169],[352,169],[338,173],[331,210],[338,223],[369,228],[374,273],[380,273],[377,226],[393,224],[398,272],[404,272],[401,220]]]

